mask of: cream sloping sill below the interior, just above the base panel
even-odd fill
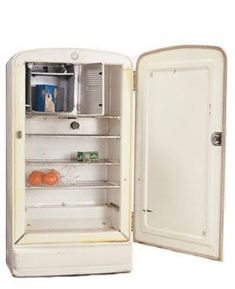
[[[19,245],[128,242],[129,237],[111,227],[77,230],[37,230],[26,231],[17,242]]]

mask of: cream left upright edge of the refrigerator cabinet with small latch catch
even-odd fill
[[[24,66],[7,64],[7,228],[11,248],[24,233]],[[17,97],[16,91],[20,92]],[[17,132],[22,138],[17,138]]]

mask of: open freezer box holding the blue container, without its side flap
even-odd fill
[[[35,114],[74,110],[75,71],[72,64],[26,64],[26,111]]]

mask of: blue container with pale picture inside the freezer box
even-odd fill
[[[56,85],[37,84],[33,110],[41,112],[55,112],[58,87]]]

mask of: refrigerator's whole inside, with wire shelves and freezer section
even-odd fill
[[[56,88],[53,110],[38,110],[38,85]],[[88,242],[97,232],[102,240],[105,232],[124,236],[121,93],[121,65],[26,64],[26,233],[86,233]],[[98,159],[78,161],[78,152],[98,152]],[[48,173],[56,184],[45,181]]]

